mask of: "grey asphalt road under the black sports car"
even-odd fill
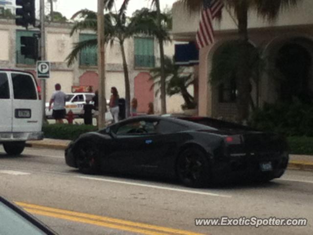
[[[83,175],[60,150],[0,146],[0,194],[61,235],[312,235],[313,172],[289,170],[267,184],[185,188],[176,182]],[[195,218],[307,218],[306,227],[197,227]]]

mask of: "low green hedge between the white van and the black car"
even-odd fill
[[[49,124],[43,126],[45,138],[59,140],[75,140],[81,134],[97,130],[98,128],[92,125]]]

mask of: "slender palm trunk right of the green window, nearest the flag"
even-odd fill
[[[156,10],[157,10],[157,25],[161,29],[161,10],[160,2],[156,0]],[[164,68],[164,47],[163,39],[158,38],[158,43],[160,46],[160,63],[161,63],[161,114],[166,114],[166,77],[165,77],[165,68]]]

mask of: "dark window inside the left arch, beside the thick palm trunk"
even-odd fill
[[[219,86],[219,102],[235,103],[237,99],[237,88],[235,79],[223,82]]]

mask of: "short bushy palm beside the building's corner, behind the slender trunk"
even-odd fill
[[[186,72],[184,68],[175,65],[174,58],[171,59],[168,56],[164,58],[164,72],[166,77],[166,93],[170,96],[174,94],[180,94],[184,99],[184,104],[182,105],[183,109],[194,109],[196,104],[194,97],[188,92],[188,87],[194,83],[193,74]],[[155,68],[150,70],[151,79],[154,81],[151,89],[155,85],[160,85],[161,77],[161,68]],[[159,93],[159,90],[156,90],[156,95]]]

